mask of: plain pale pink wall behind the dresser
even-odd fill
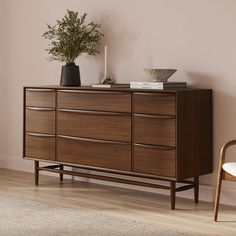
[[[236,138],[236,1],[1,0],[0,4],[3,167],[32,171],[31,163],[21,159],[22,87],[59,83],[61,63],[46,60],[47,42],[41,36],[46,23],[55,23],[66,9],[87,12],[90,20],[102,24],[105,37],[100,48],[108,45],[109,71],[118,82],[146,79],[145,67],[171,67],[178,69],[171,80],[213,89],[214,163],[220,146]],[[82,56],[77,62],[82,84],[102,78],[103,54]],[[232,160],[234,155],[232,151]],[[215,180],[215,171],[201,178],[206,193],[200,197],[212,199]]]

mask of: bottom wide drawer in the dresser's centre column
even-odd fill
[[[66,136],[59,136],[57,143],[57,161],[131,170],[131,145],[129,143]]]

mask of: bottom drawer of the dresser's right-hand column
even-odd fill
[[[175,177],[175,149],[152,145],[135,145],[133,171]]]

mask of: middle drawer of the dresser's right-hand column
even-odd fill
[[[135,114],[134,143],[175,146],[175,117]]]

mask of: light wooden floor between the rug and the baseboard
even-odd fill
[[[219,222],[213,222],[213,204],[183,198],[176,199],[176,210],[170,210],[169,197],[40,174],[34,175],[0,169],[0,195],[16,196],[63,207],[87,208],[104,214],[156,223],[168,228],[195,232],[196,235],[236,235],[236,208],[220,206]],[[190,190],[191,191],[191,190]]]

